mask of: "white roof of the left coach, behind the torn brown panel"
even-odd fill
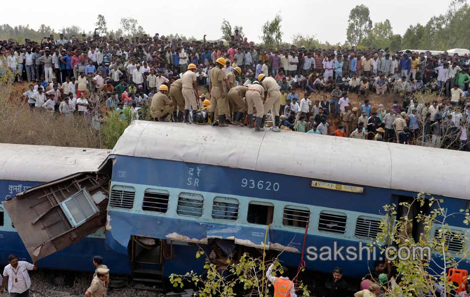
[[[49,182],[96,171],[110,150],[0,144],[0,180]]]

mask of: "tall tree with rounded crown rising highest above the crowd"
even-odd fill
[[[348,43],[358,46],[371,30],[372,20],[370,18],[369,7],[361,4],[351,9],[346,30]]]

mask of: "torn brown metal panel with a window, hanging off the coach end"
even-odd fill
[[[68,247],[104,226],[109,179],[104,173],[77,173],[3,202],[33,260]]]

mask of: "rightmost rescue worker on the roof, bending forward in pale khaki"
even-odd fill
[[[263,73],[258,75],[258,81],[265,89],[264,96],[266,98],[264,102],[264,110],[268,112],[271,109],[271,113],[274,116],[274,127],[273,131],[279,132],[279,108],[281,107],[281,92],[279,91],[279,85],[276,83],[274,77],[266,77]],[[261,127],[264,127],[266,115],[263,116],[263,122]]]

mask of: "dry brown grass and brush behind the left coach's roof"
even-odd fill
[[[103,148],[104,138],[91,119],[64,117],[31,111],[22,93],[24,86],[12,85],[0,75],[0,141],[11,144],[57,147]]]

